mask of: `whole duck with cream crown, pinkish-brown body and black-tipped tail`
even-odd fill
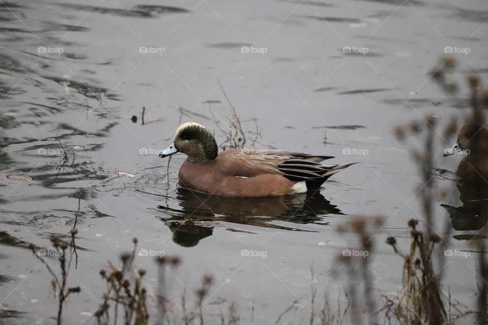
[[[230,149],[219,154],[214,135],[188,122],[176,130],[174,142],[160,156],[176,152],[188,158],[179,185],[218,196],[268,197],[318,189],[330,176],[353,165],[322,165],[331,156],[282,150]]]

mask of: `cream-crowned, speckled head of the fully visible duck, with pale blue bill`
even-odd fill
[[[215,158],[219,153],[214,135],[205,126],[188,122],[181,124],[174,134],[173,144],[160,153],[160,157],[167,157],[176,152],[188,156],[188,161],[195,164],[205,164]]]

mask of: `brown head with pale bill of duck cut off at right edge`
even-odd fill
[[[466,153],[483,153],[488,149],[488,130],[477,123],[466,124],[457,135],[456,143],[444,150],[444,157],[462,151]]]

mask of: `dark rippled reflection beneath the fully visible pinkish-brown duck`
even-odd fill
[[[169,219],[160,218],[173,233],[173,241],[184,247],[193,247],[201,239],[212,235],[218,221],[277,230],[304,231],[278,225],[272,221],[327,225],[327,222],[323,222],[324,215],[343,214],[319,191],[261,198],[216,197],[185,188],[178,188],[176,193],[181,209],[165,206],[158,208],[170,216]],[[252,234],[229,227],[227,230]]]

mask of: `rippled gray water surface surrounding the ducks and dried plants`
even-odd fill
[[[69,281],[82,291],[66,304],[67,323],[95,322],[90,314],[105,289],[98,271],[130,250],[133,237],[140,249],[181,257],[171,288],[175,301],[184,284],[195,288],[206,272],[216,282],[209,310],[217,312],[211,303],[218,299],[235,299],[241,323],[272,324],[293,300],[310,304],[311,265],[319,296],[326,291],[335,300],[345,280],[342,274],[331,278],[331,270],[341,267],[335,256],[357,242],[337,226],[355,215],[381,214],[387,223],[373,238],[374,284],[395,290],[402,262],[383,243],[393,235],[407,245],[407,221],[422,218],[414,194],[422,182],[392,128],[428,114],[447,123],[468,107],[466,87],[447,96],[428,72],[446,46],[469,48],[453,54],[459,62],[453,77],[463,81],[479,72],[485,81],[487,19],[483,1],[2,2],[5,322],[54,322],[51,277],[27,245],[48,248],[51,235],[66,237],[79,197],[79,259]],[[181,122],[204,124],[224,140],[209,109],[227,128],[229,105],[219,80],[249,139],[255,132],[249,120],[257,119],[258,148],[360,164],[334,175],[312,198],[223,199],[177,190],[185,159],[179,154],[168,186],[167,159],[155,153],[171,143]],[[75,154],[59,168],[58,138]],[[452,172],[461,158],[436,154],[436,186],[454,187]],[[32,180],[8,178],[16,174]],[[440,204],[462,203],[456,196],[436,203],[438,218],[430,226],[441,232],[451,221]],[[451,249],[470,249],[452,236],[477,232],[457,228],[445,240]],[[265,252],[266,258],[242,256],[242,250]],[[474,257],[449,257],[444,269],[451,294],[470,305]],[[56,265],[55,258],[48,261]],[[155,287],[154,257],[138,256],[135,264]],[[310,313],[308,307],[297,311],[295,323]]]

